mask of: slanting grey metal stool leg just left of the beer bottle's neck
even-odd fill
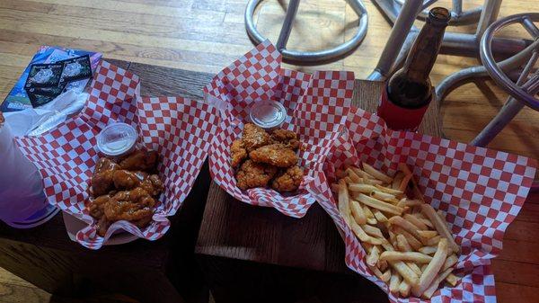
[[[397,20],[393,24],[393,29],[389,39],[385,44],[384,50],[373,73],[367,77],[368,80],[384,80],[392,71],[393,64],[402,49],[402,44],[410,34],[411,26],[415,21],[420,9],[422,0],[408,0],[402,6]]]

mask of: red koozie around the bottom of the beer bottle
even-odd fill
[[[401,107],[388,98],[387,88],[384,86],[376,114],[384,119],[385,124],[390,129],[416,131],[423,120],[425,111],[429,108],[429,104],[430,101],[415,109]]]

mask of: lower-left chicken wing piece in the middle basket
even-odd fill
[[[243,191],[253,187],[264,187],[275,174],[277,174],[276,167],[247,160],[236,174],[237,185]]]

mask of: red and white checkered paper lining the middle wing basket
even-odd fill
[[[216,105],[222,115],[222,124],[210,150],[209,167],[214,181],[237,200],[273,207],[287,216],[301,218],[315,201],[306,188],[326,186],[318,183],[314,172],[322,170],[333,140],[344,127],[354,74],[319,71],[309,75],[281,68],[280,64],[281,55],[266,40],[222,70],[206,86],[206,101]],[[240,138],[252,103],[263,100],[285,106],[287,120],[282,128],[295,131],[302,143],[299,165],[304,167],[306,176],[299,192],[292,196],[266,188],[242,191],[236,186],[229,147],[234,139]]]

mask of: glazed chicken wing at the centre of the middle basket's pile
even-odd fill
[[[296,165],[297,163],[296,152],[280,143],[257,148],[249,153],[249,156],[254,162],[275,165],[283,168]]]

